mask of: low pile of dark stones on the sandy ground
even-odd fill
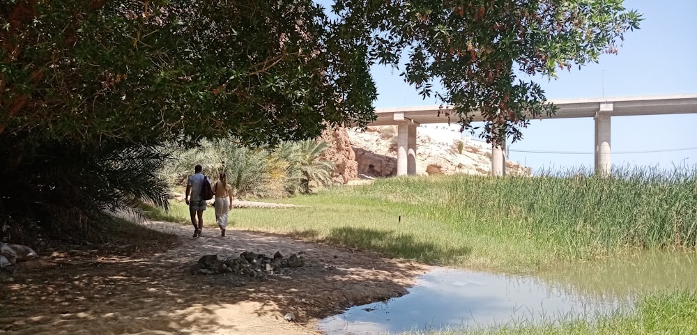
[[[304,262],[297,254],[284,257],[279,251],[268,258],[265,254],[245,251],[239,257],[221,255],[201,256],[191,269],[192,274],[238,274],[255,279],[266,279],[270,274],[282,274],[284,268],[302,267]]]

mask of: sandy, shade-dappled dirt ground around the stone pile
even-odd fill
[[[316,321],[348,306],[406,293],[427,265],[369,252],[303,242],[284,235],[164,222],[176,233],[167,250],[136,246],[109,252],[38,251],[0,279],[0,334],[322,334]],[[257,281],[235,275],[192,275],[206,254],[242,251],[297,254],[304,267]],[[293,313],[296,320],[284,320]]]

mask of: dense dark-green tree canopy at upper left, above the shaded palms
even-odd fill
[[[372,118],[365,45],[310,0],[0,5],[0,134],[77,143],[316,136]]]

